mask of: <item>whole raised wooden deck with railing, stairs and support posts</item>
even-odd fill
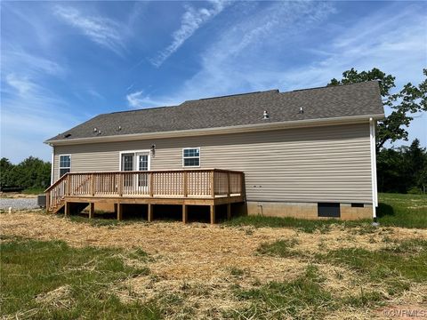
[[[148,220],[153,219],[153,205],[182,205],[182,221],[188,220],[188,205],[209,205],[211,223],[215,221],[215,205],[245,202],[243,172],[220,169],[149,171],[149,172],[69,172],[46,191],[47,212],[62,208],[69,214],[74,208],[90,204],[115,204],[117,220],[123,216],[123,204],[147,204]],[[78,205],[82,204],[82,205]],[[80,210],[81,210],[80,209]]]

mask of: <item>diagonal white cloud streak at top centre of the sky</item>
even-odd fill
[[[186,11],[181,16],[181,26],[173,32],[172,44],[169,44],[165,50],[158,53],[157,57],[151,59],[150,62],[160,67],[173,52],[176,52],[184,42],[192,36],[198,28],[202,27],[208,20],[213,19],[217,14],[222,12],[226,7],[226,3],[217,0],[211,1],[210,8],[195,8],[191,5],[186,5]]]

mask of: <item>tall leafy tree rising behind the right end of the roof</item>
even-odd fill
[[[376,150],[383,148],[385,142],[390,140],[407,140],[407,130],[415,112],[427,111],[427,69],[423,69],[426,78],[418,86],[408,83],[403,86],[400,92],[391,94],[391,90],[396,87],[395,77],[386,75],[378,68],[370,71],[358,72],[354,68],[344,71],[342,79],[332,79],[327,85],[354,84],[365,81],[377,80],[380,85],[380,92],[383,97],[384,106],[391,108],[391,115],[383,121],[378,122]]]

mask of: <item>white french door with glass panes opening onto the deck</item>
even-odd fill
[[[124,191],[126,194],[146,194],[148,192],[149,151],[122,153],[120,170],[141,172],[125,175]]]

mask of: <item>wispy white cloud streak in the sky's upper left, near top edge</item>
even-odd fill
[[[125,49],[120,25],[108,18],[85,16],[76,8],[57,5],[55,14],[68,25],[79,29],[85,36],[96,44],[109,48],[109,50],[122,55]]]

